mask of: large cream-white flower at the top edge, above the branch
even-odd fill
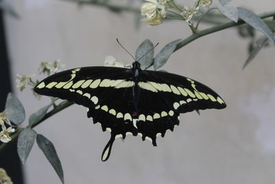
[[[141,7],[143,19],[148,25],[159,25],[162,23],[162,19],[166,17],[165,6],[166,1],[158,3],[157,0],[146,0],[147,3],[143,3]]]

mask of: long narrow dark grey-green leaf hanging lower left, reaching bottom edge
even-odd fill
[[[45,138],[45,136],[37,134],[36,143],[37,145],[39,145],[39,148],[45,154],[47,160],[51,163],[52,167],[54,167],[54,170],[56,171],[58,177],[61,179],[61,182],[64,183],[64,175],[61,161],[58,159],[56,149],[54,148],[52,142]]]

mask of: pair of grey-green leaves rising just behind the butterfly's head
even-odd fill
[[[164,46],[164,48],[162,48],[162,50],[160,50],[160,52],[154,58],[154,50],[153,50],[154,45],[150,40],[146,39],[137,48],[137,50],[135,52],[135,60],[137,60],[137,61],[140,60],[139,61],[140,67],[142,68],[142,70],[145,70],[145,69],[151,67],[151,65],[153,65],[154,69],[157,70],[157,69],[161,68],[166,63],[166,61],[169,59],[170,55],[177,48],[177,44],[180,41],[181,41],[181,39],[177,39],[175,41],[168,43],[167,45]],[[149,50],[151,50],[151,51],[148,52]],[[146,54],[146,55],[144,55],[144,54]]]

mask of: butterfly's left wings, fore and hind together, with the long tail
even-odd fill
[[[87,116],[93,118],[94,123],[100,123],[103,131],[111,132],[111,139],[102,153],[102,161],[106,161],[115,138],[137,135],[130,114],[135,112],[132,100],[135,83],[131,76],[131,70],[126,68],[76,68],[47,77],[34,91],[89,108]]]

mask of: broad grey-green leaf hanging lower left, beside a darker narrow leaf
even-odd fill
[[[17,153],[23,164],[25,164],[25,161],[28,159],[30,150],[32,150],[32,146],[34,145],[35,138],[36,132],[30,128],[23,129],[19,134],[17,141]]]

